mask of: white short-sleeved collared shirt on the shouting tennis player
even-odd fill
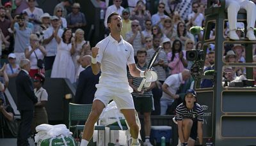
[[[118,43],[111,34],[97,43],[99,48],[97,62],[100,62],[101,75],[99,84],[115,87],[116,89],[128,89],[127,64],[133,64],[134,50],[132,45],[123,40]]]

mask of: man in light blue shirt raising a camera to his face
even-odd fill
[[[13,27],[15,22],[18,22],[19,27]],[[14,54],[16,55],[17,63],[19,63],[21,59],[25,59],[24,52],[25,48],[29,47],[29,37],[32,31],[26,27],[24,16],[20,15],[14,17],[11,29],[15,34]]]

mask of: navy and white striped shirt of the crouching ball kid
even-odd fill
[[[182,120],[183,118],[196,118],[198,121],[203,122],[204,110],[198,103],[195,103],[195,106],[191,110],[188,110],[188,108],[186,108],[186,106],[183,103],[180,103],[180,105],[176,108],[175,119]]]

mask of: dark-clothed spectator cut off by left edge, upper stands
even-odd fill
[[[0,7],[0,33],[2,32],[3,34],[0,34],[1,36],[1,40],[3,41],[3,38],[6,41],[10,42],[10,32],[8,31],[8,29],[11,26],[11,21],[6,19],[6,10],[3,7]],[[10,44],[10,43],[9,43]],[[8,44],[6,44],[6,48],[7,48]]]

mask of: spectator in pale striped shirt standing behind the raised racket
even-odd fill
[[[150,59],[156,52],[157,48],[160,45],[160,42],[161,42],[160,38],[157,38],[157,37],[153,38],[153,48],[150,48],[150,50],[147,50],[147,62],[150,61]],[[153,64],[154,69],[156,69],[156,72],[157,72],[158,80],[159,82],[161,82],[161,84],[163,84],[164,80],[166,79],[165,69],[168,67],[167,64],[168,62],[166,59],[166,54],[163,50],[161,50],[159,56],[156,59],[156,62]]]

